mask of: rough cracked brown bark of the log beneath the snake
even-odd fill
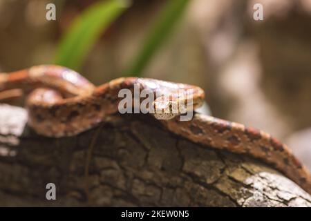
[[[0,206],[311,206],[270,167],[189,142],[148,115],[113,115],[61,139],[26,121],[23,108],[0,106]],[[57,200],[46,200],[48,183]]]

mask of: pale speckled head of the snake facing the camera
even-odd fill
[[[178,111],[178,100],[167,97],[158,97],[154,102],[154,117],[156,119],[172,119],[180,115]]]

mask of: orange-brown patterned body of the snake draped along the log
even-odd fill
[[[122,77],[95,87],[75,71],[53,65],[0,74],[0,92],[21,88],[30,93],[26,101],[28,124],[37,133],[48,137],[76,135],[97,126],[104,116],[117,113],[121,99],[118,97],[119,90],[133,90],[136,83],[152,93],[193,89],[194,108],[200,106],[205,97],[197,86],[138,77]],[[309,171],[294,157],[288,146],[263,131],[205,115],[194,115],[190,121],[173,117],[160,122],[169,131],[192,142],[251,155],[272,164],[311,193]]]

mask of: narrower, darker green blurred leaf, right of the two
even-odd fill
[[[163,10],[155,18],[156,23],[151,27],[142,48],[138,51],[138,55],[131,62],[131,66],[125,70],[123,76],[135,75],[140,77],[142,75],[144,68],[182,17],[185,8],[187,8],[187,3],[189,0],[167,0]]]

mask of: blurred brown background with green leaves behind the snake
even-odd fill
[[[271,133],[311,169],[311,0],[0,0],[0,48],[1,72],[196,84],[212,115]]]

